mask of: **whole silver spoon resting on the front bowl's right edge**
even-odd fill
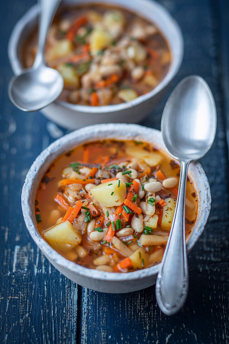
[[[188,165],[210,149],[216,134],[216,122],[215,101],[207,83],[197,75],[184,78],[168,98],[161,121],[165,146],[181,163],[175,214],[156,281],[156,300],[167,315],[181,309],[188,292],[185,245]]]

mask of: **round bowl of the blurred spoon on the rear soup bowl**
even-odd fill
[[[50,105],[62,92],[64,80],[53,68],[28,68],[9,83],[12,103],[23,111],[36,111]]]

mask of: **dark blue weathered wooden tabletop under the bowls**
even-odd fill
[[[228,343],[228,0],[160,1],[181,26],[184,61],[160,105],[142,124],[160,128],[168,95],[189,74],[205,78],[218,113],[215,142],[201,159],[211,186],[211,213],[188,257],[187,301],[171,317],[157,307],[154,286],[117,295],[71,282],[51,266],[25,227],[20,200],[25,175],[54,141],[40,112],[25,114],[7,96],[9,35],[33,3],[4,1],[0,13],[0,343]]]

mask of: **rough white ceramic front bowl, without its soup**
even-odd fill
[[[74,282],[81,286],[107,293],[125,293],[143,289],[155,283],[159,265],[128,273],[110,273],[87,269],[58,254],[42,238],[37,230],[34,213],[36,190],[44,172],[61,154],[74,147],[97,139],[134,139],[146,141],[165,150],[162,135],[159,130],[134,124],[102,124],[76,130],[53,142],[32,164],[22,189],[22,211],[26,227],[30,235],[50,262]],[[207,177],[199,162],[189,165],[188,174],[193,181],[198,198],[198,216],[195,226],[187,238],[189,252],[204,230],[210,212],[211,195]]]

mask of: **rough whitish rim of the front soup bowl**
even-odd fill
[[[119,135],[120,132],[125,131],[125,134]],[[141,136],[141,132],[144,130],[144,137]],[[109,134],[108,134],[109,133]],[[86,139],[84,139],[86,137]],[[51,165],[51,163],[57,159],[57,157],[65,152],[69,151],[70,149],[79,146],[80,144],[84,144],[86,142],[95,141],[98,139],[109,139],[109,138],[116,138],[116,139],[142,139],[145,142],[151,142],[153,144],[153,140],[150,140],[150,137],[156,138],[158,142],[160,141],[160,149],[165,150],[162,133],[160,130],[156,130],[153,128],[147,128],[136,124],[124,124],[124,123],[108,123],[108,124],[97,124],[92,126],[87,126],[78,130],[75,130],[63,137],[57,139],[53,143],[50,144],[47,148],[45,148],[35,159],[33,164],[31,165],[29,172],[26,175],[25,182],[22,188],[22,212],[26,227],[35,241],[36,245],[44,252],[45,256],[49,260],[51,259],[55,262],[58,266],[61,266],[63,269],[67,269],[76,275],[81,275],[87,278],[93,278],[97,280],[103,281],[127,281],[127,280],[137,280],[144,277],[150,277],[159,271],[160,264],[157,264],[153,267],[145,268],[143,270],[137,270],[128,273],[118,273],[118,272],[103,272],[95,269],[88,269],[82,267],[72,261],[69,261],[67,258],[64,258],[61,254],[55,251],[41,236],[38,232],[35,220],[35,213],[34,208],[30,206],[30,202],[33,205],[35,201],[31,199],[31,192],[33,190],[37,190],[37,187],[40,183],[43,173],[47,170],[47,166]],[[144,138],[146,138],[144,140]],[[78,141],[77,141],[78,140]],[[74,143],[76,142],[76,143]],[[69,146],[68,146],[69,144]],[[158,144],[155,144],[158,146]],[[164,148],[163,148],[164,147]],[[46,162],[46,159],[51,156],[51,160]],[[47,164],[47,166],[45,166]],[[38,178],[38,173],[43,168],[43,172],[41,176]],[[195,245],[196,241],[198,240],[199,236],[204,230],[204,226],[207,222],[208,215],[210,212],[211,206],[211,194],[210,194],[210,187],[207,180],[207,176],[200,165],[199,162],[191,162],[189,165],[189,169],[193,169],[199,179],[203,182],[203,207],[204,213],[199,220],[198,226],[195,227],[195,235],[189,236],[186,241],[186,248],[187,252],[189,252],[192,247]],[[34,189],[34,184],[37,186]],[[199,209],[198,209],[199,210]],[[197,215],[198,219],[198,215]]]

